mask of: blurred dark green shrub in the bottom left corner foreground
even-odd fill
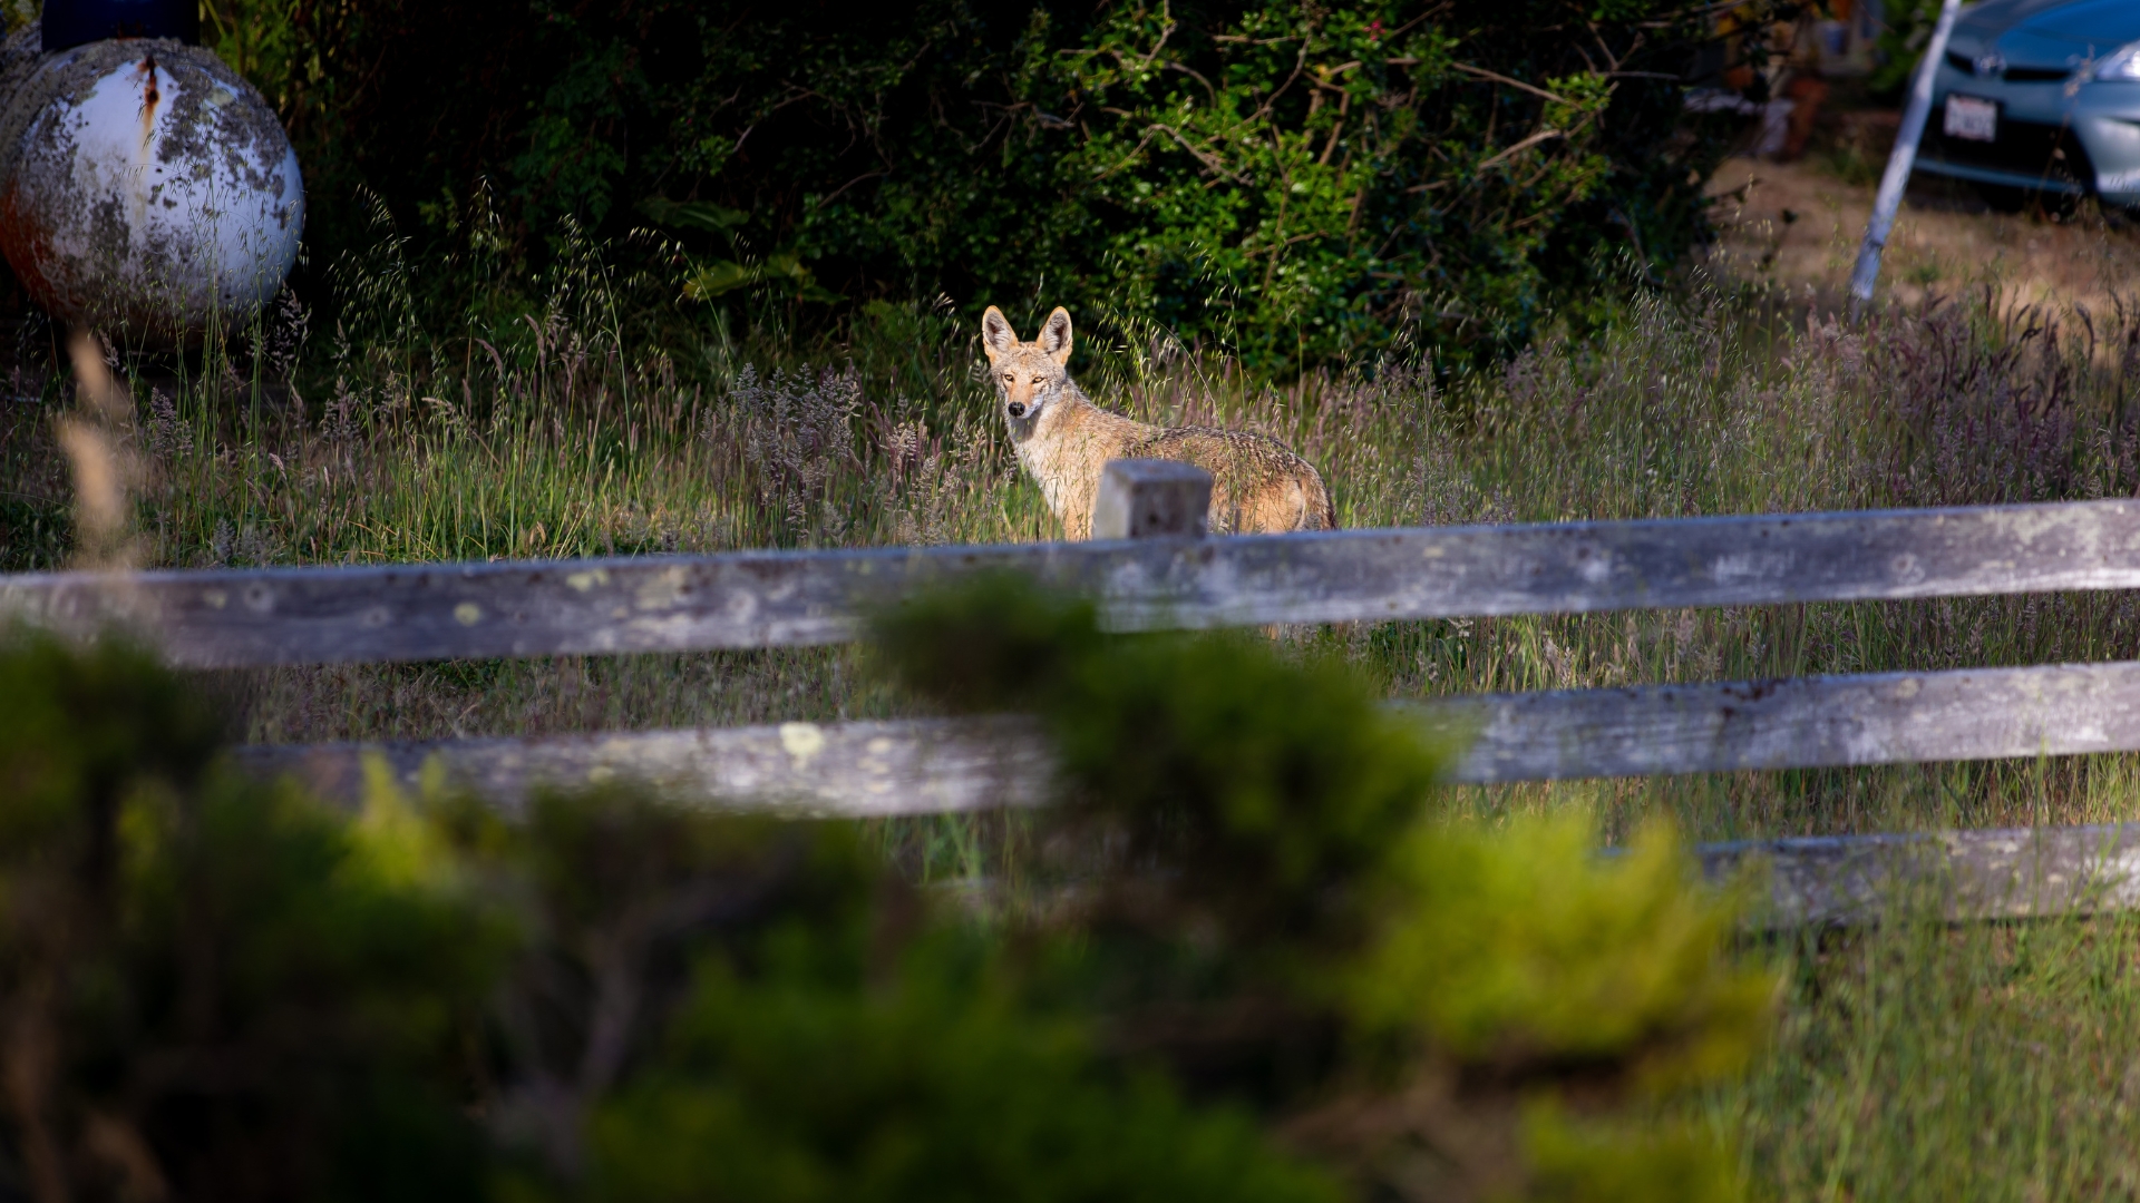
[[[30,1199],[469,1199],[496,957],[392,826],[212,766],[120,642],[0,640],[0,1175]],[[402,869],[396,869],[400,865]]]

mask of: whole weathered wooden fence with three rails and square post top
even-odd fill
[[[2140,589],[2140,503],[1378,529],[1205,537],[1209,477],[1109,465],[1102,537],[606,561],[30,574],[0,612],[133,625],[180,666],[766,649],[852,640],[899,595],[1017,569],[1096,595],[1115,629],[1573,614]],[[1421,721],[1474,732],[1457,781],[1543,781],[2140,749],[2140,664],[1887,672],[1451,698]],[[886,816],[1036,801],[1046,751],[1021,719],[248,747],[349,794],[364,756],[441,758],[503,805],[537,781],[644,777],[725,805]],[[2140,828],[1785,839],[1703,850],[1774,865],[1774,914],[1843,920],[1896,882],[1956,914],[2140,899]]]

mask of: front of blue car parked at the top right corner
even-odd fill
[[[1917,169],[2005,210],[2086,195],[2140,208],[2140,0],[1962,9]]]

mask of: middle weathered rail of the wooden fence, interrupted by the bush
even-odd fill
[[[2140,749],[2140,664],[2057,664],[1474,694],[1397,709],[1464,736],[1464,786],[1658,777],[1738,768],[1834,768]],[[1017,719],[905,719],[255,747],[259,766],[353,796],[377,751],[402,779],[439,758],[486,796],[516,803],[537,781],[636,773],[730,805],[886,816],[954,811],[993,792],[1038,798],[1046,756]]]

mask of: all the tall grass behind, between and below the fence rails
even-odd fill
[[[529,313],[424,330],[392,263],[293,379],[205,355],[137,381],[160,565],[693,552],[1057,537],[972,370],[972,332],[871,306],[839,338],[633,308],[599,272]],[[366,291],[368,289],[368,291]],[[387,300],[381,300],[387,298]],[[366,308],[370,306],[370,308]],[[625,317],[618,317],[623,313]],[[653,313],[655,317],[648,317]],[[381,317],[385,315],[385,317]],[[394,317],[400,315],[400,317]],[[687,321],[689,319],[689,321]],[[1106,405],[1278,435],[1346,527],[1541,522],[2129,497],[2140,313],[2001,313],[1965,295],[1864,332],[1723,285],[1629,304],[1507,370],[1357,364],[1245,377],[1111,315],[1072,368]],[[280,334],[293,338],[293,315]],[[0,563],[64,561],[41,405],[0,417]],[[1288,636],[1391,696],[2129,659],[2129,595],[1361,623]],[[858,653],[563,657],[238,674],[255,741],[434,738],[877,717]],[[1695,839],[2140,818],[2140,758],[1736,773],[1468,790],[1483,816],[1588,807],[1605,839],[1671,813]],[[929,880],[1014,867],[1019,824],[884,831]],[[2136,1194],[2136,920],[1894,923],[1776,950],[1774,1053],[1714,1096],[1757,1194]]]

